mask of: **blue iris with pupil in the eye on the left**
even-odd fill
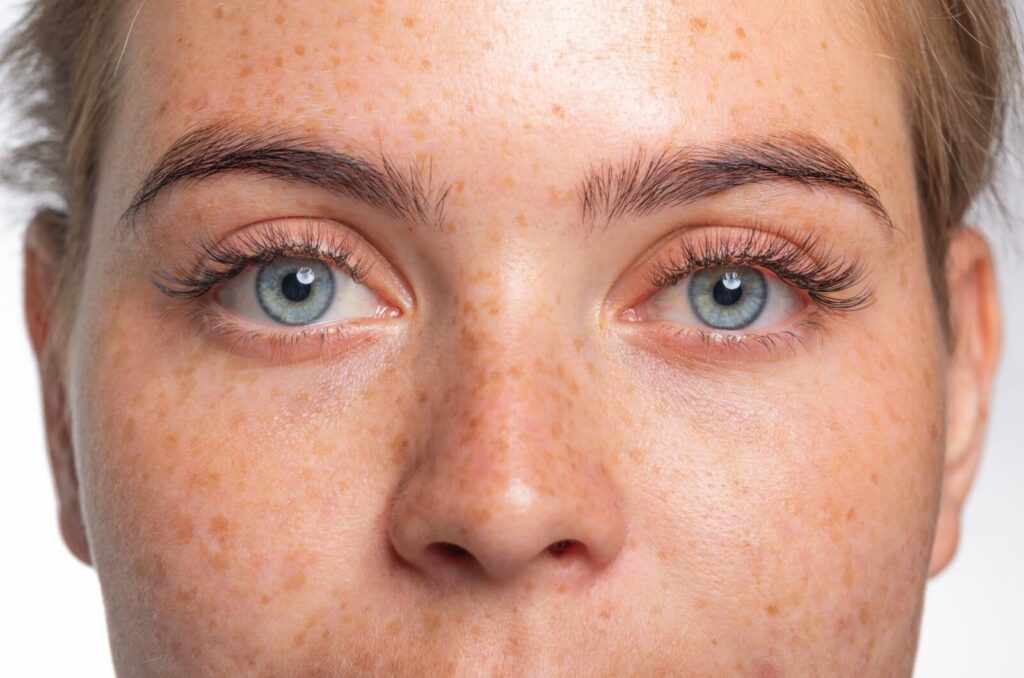
[[[256,276],[259,305],[282,325],[316,322],[331,307],[334,294],[334,274],[316,259],[281,257]]]

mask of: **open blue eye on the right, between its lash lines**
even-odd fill
[[[771,273],[716,266],[690,273],[645,301],[642,317],[735,332],[771,327],[800,310],[802,299]]]

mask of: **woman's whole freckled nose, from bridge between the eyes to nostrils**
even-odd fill
[[[594,427],[582,425],[556,324],[487,315],[451,335],[458,357],[446,362],[444,404],[395,503],[392,543],[432,576],[509,579],[566,553],[585,570],[607,564],[624,539],[621,500]],[[443,557],[453,549],[464,562]]]

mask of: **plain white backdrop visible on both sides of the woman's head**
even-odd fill
[[[0,0],[0,30],[20,6]],[[7,122],[0,118],[0,147],[10,141]],[[1019,136],[1014,141],[1016,155],[1024,155],[1024,142]],[[916,669],[922,678],[1024,676],[1024,174],[1006,174],[1004,184],[1013,223],[985,209],[976,222],[998,252],[1005,356],[961,549],[928,589]],[[95,575],[65,549],[57,528],[22,311],[20,235],[29,215],[24,200],[0,188],[0,516],[6,535],[0,674],[111,676]],[[1017,235],[1009,236],[1011,229]]]

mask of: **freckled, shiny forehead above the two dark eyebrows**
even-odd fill
[[[612,4],[148,0],[115,137],[135,180],[225,121],[472,175],[791,131],[842,150],[884,199],[906,173],[898,79],[855,3]]]

